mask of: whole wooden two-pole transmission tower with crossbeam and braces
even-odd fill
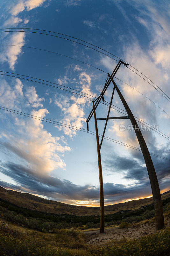
[[[162,200],[161,200],[161,196],[160,196],[160,189],[159,189],[159,183],[158,183],[158,179],[156,176],[156,172],[155,172],[155,168],[154,165],[152,163],[152,158],[150,156],[149,150],[146,146],[144,137],[138,127],[138,124],[127,104],[127,102],[125,101],[122,93],[120,92],[119,88],[117,87],[117,84],[114,82],[113,78],[117,73],[117,70],[120,68],[121,64],[127,66],[128,64],[124,63],[123,61],[119,60],[116,68],[113,70],[113,73],[110,75],[108,73],[108,77],[106,80],[106,83],[104,85],[103,91],[101,92],[101,94],[99,95],[98,98],[96,98],[96,100],[93,101],[93,108],[87,118],[87,130],[89,131],[89,121],[91,119],[91,117],[94,114],[94,118],[95,118],[95,128],[96,128],[96,141],[97,141],[97,154],[98,154],[98,166],[99,166],[99,180],[100,180],[100,233],[104,233],[104,194],[103,194],[103,176],[102,176],[102,164],[101,164],[101,155],[100,155],[100,149],[102,146],[102,142],[103,142],[103,138],[104,138],[104,133],[106,130],[106,126],[107,126],[107,122],[109,119],[130,119],[131,120],[131,124],[134,128],[134,131],[136,133],[140,148],[142,150],[144,159],[145,159],[145,164],[146,164],[146,168],[148,171],[148,175],[149,175],[149,180],[151,183],[151,189],[152,189],[152,196],[153,196],[153,203],[154,203],[154,209],[155,209],[155,226],[156,226],[156,230],[159,230],[161,228],[164,227],[164,216],[163,216],[163,208],[162,208]],[[104,93],[106,92],[108,86],[110,85],[110,83],[113,83],[113,92],[111,95],[111,100],[110,100],[110,106],[109,106],[109,110],[108,110],[108,114],[106,118],[96,118],[96,108],[99,105],[100,101],[103,100],[104,101]],[[117,91],[123,105],[124,108],[128,114],[128,116],[118,116],[118,117],[109,117],[110,114],[110,108],[111,108],[111,104],[112,104],[112,100],[113,100],[113,95],[114,95],[114,91]],[[99,135],[98,135],[98,128],[97,128],[97,120],[106,120],[105,126],[104,126],[104,130],[103,130],[103,135],[102,135],[102,139],[101,142],[99,142]]]

